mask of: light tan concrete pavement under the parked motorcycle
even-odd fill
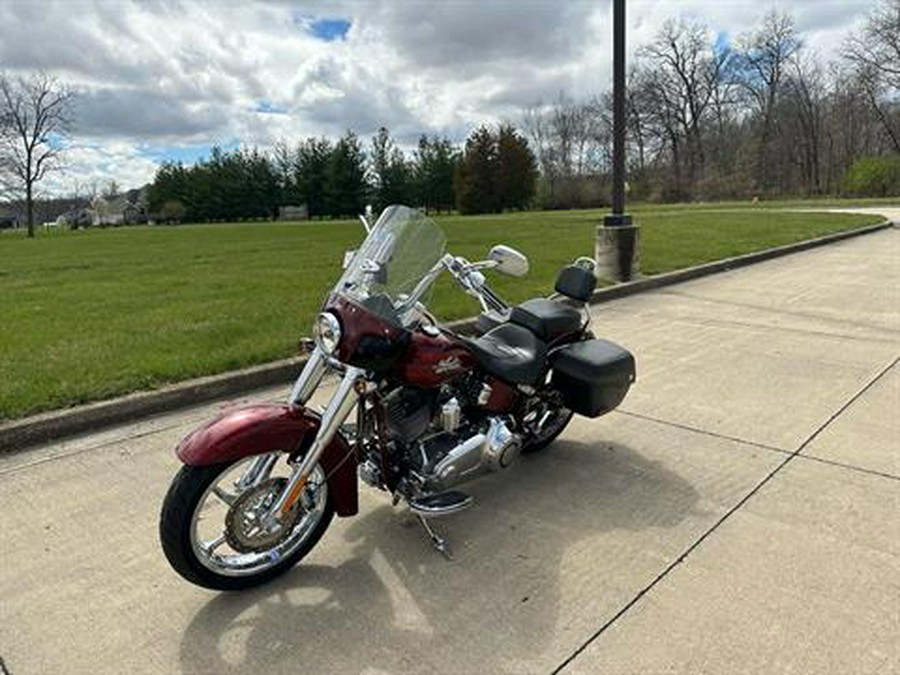
[[[898,289],[893,229],[597,307],[638,384],[474,484],[453,562],[367,491],[264,588],[182,582],[215,406],[4,458],[0,673],[900,672]]]

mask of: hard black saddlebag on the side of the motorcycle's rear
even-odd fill
[[[565,406],[599,417],[618,406],[634,382],[634,356],[608,340],[575,342],[550,356],[553,386]]]

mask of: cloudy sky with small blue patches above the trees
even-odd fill
[[[772,8],[823,60],[872,0],[629,0],[629,51],[667,18],[735,39]],[[84,2],[0,0],[0,69],[76,90],[73,181],[140,185],[212,145],[365,137],[454,140],[523,106],[610,86],[610,0]]]

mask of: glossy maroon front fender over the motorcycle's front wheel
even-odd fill
[[[244,457],[308,447],[319,430],[320,417],[301,407],[253,405],[227,412],[186,436],[175,450],[189,466],[234,462]],[[340,433],[319,460],[328,476],[328,491],[339,516],[359,511],[356,453]]]

